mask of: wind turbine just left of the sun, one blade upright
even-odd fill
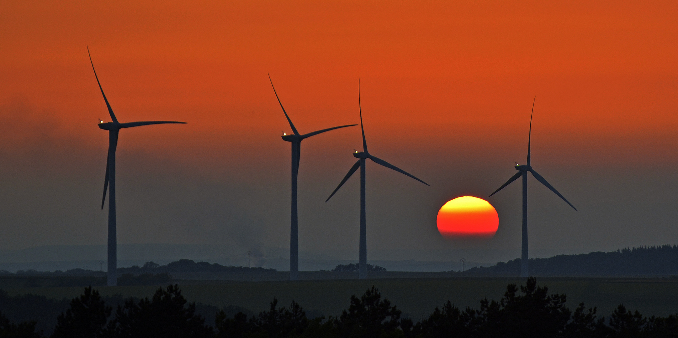
[[[348,180],[353,173],[360,168],[360,244],[359,244],[359,267],[358,267],[358,278],[359,279],[366,279],[367,278],[367,226],[365,222],[365,165],[367,164],[367,159],[369,158],[370,160],[374,161],[376,164],[380,164],[382,166],[385,166],[386,168],[393,169],[397,172],[401,172],[407,176],[410,176],[414,178],[415,180],[418,180],[421,183],[424,183],[424,185],[428,185],[428,183],[424,182],[423,180],[420,180],[419,178],[414,177],[412,174],[409,174],[405,172],[405,170],[402,170],[401,168],[398,168],[397,166],[394,166],[393,164],[390,164],[380,158],[377,158],[376,156],[370,154],[367,152],[367,141],[365,141],[365,128],[363,128],[363,110],[360,105],[360,81],[358,81],[358,110],[360,112],[360,130],[363,133],[363,151],[355,151],[353,153],[353,156],[355,158],[358,158],[358,161],[353,164],[353,167],[351,167],[351,170],[348,170],[348,174],[344,176],[344,179],[339,183],[338,187],[332,191],[332,195],[330,197],[327,197],[325,202],[329,201],[332,196],[334,196],[334,193],[336,193],[339,188],[341,188],[344,183],[346,183],[346,180]]]

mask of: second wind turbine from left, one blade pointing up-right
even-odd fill
[[[299,227],[298,227],[298,217],[297,217],[297,176],[299,175],[299,160],[301,158],[301,141],[312,137],[313,135],[321,134],[322,132],[344,128],[347,126],[357,126],[357,124],[346,124],[345,126],[336,126],[332,128],[327,128],[323,130],[317,130],[314,132],[309,132],[308,134],[301,135],[294,128],[290,116],[287,116],[285,112],[285,107],[278,97],[278,93],[275,91],[273,86],[273,80],[271,80],[271,74],[268,74],[268,80],[271,81],[271,87],[273,87],[273,93],[275,93],[275,98],[278,99],[280,107],[283,108],[283,113],[285,113],[285,118],[287,122],[290,122],[290,127],[292,127],[293,135],[287,135],[283,133],[283,141],[292,143],[292,216],[290,217],[290,281],[299,280]]]

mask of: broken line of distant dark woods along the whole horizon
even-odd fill
[[[464,276],[519,276],[520,258],[509,262],[498,262],[494,266],[474,267],[466,270]],[[358,270],[358,264],[339,264],[332,271],[354,272]],[[367,264],[369,272],[386,271],[381,266]],[[322,270],[321,270],[322,271]],[[178,260],[167,265],[154,262],[146,262],[143,266],[131,266],[118,268],[118,274],[145,275],[143,279],[125,279],[125,285],[148,285],[144,284],[156,274],[167,274],[171,278],[172,273],[179,272],[275,272],[273,268],[247,268],[246,266],[223,266],[209,262],[195,262],[193,260]],[[530,272],[536,276],[678,276],[678,245],[660,245],[652,247],[633,247],[617,251],[596,251],[589,254],[559,255],[551,258],[530,258]],[[448,272],[456,274],[456,272]],[[462,274],[459,273],[459,276]],[[104,285],[106,272],[71,269],[66,271],[41,272],[36,270],[19,270],[16,273],[0,270],[0,276],[92,276],[98,279],[58,281],[61,283],[54,286],[84,286]],[[166,277],[163,277],[166,278]],[[143,281],[142,281],[143,280]],[[161,281],[157,277],[155,283],[168,283],[171,279]],[[129,284],[132,283],[132,284]],[[30,286],[30,285],[29,285]]]

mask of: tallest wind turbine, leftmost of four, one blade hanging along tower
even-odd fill
[[[96,76],[94,70],[94,62],[92,62],[92,55],[89,54],[89,47],[87,47],[87,55],[89,55],[89,63],[92,64],[94,77],[96,83],[99,84],[101,95],[104,97],[106,107],[108,107],[108,114],[111,114],[113,122],[105,122],[100,120],[99,128],[108,130],[108,160],[106,160],[106,177],[104,178],[104,197],[101,201],[101,210],[104,210],[104,202],[106,201],[106,189],[108,188],[108,286],[114,287],[117,285],[117,232],[115,224],[115,149],[118,145],[118,132],[121,128],[130,128],[134,126],[146,126],[148,124],[163,124],[163,123],[186,123],[176,121],[142,121],[142,122],[126,122],[120,123],[113,114],[111,105],[108,104],[104,89],[101,88],[99,77]]]

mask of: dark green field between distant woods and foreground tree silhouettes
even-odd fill
[[[286,272],[279,272],[285,274]],[[393,272],[395,274],[395,272]],[[400,272],[407,276],[407,272]],[[421,274],[413,272],[412,274]],[[348,274],[346,277],[350,277]],[[12,283],[9,283],[12,282]],[[666,316],[678,313],[678,279],[612,279],[612,278],[538,278],[538,285],[549,287],[549,293],[567,294],[567,305],[574,309],[584,301],[597,306],[599,314],[609,316],[614,307],[624,304],[645,316]],[[268,309],[277,297],[281,305],[294,299],[306,310],[318,310],[336,316],[348,307],[351,295],[361,295],[375,285],[382,296],[390,299],[412,318],[429,314],[436,306],[450,299],[460,308],[479,307],[483,297],[500,299],[508,283],[525,283],[515,278],[399,278],[338,279],[316,281],[200,281],[181,280],[183,294],[189,301],[214,306],[235,305],[254,312]],[[11,285],[13,284],[13,285]],[[124,296],[150,297],[158,286],[96,287],[102,295],[121,293]],[[23,287],[20,281],[0,279],[0,289],[9,295],[33,293],[50,298],[71,298],[83,287]],[[315,311],[314,311],[315,312]]]

